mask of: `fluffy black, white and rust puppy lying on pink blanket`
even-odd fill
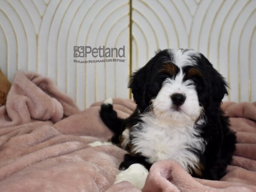
[[[224,78],[193,49],[165,49],[131,77],[137,109],[119,119],[111,104],[100,115],[126,149],[120,169],[140,163],[149,169],[175,160],[193,177],[219,180],[235,151],[236,136],[221,110]]]

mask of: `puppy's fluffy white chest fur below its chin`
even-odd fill
[[[171,159],[180,163],[185,169],[198,164],[199,158],[191,148],[204,151],[205,145],[203,138],[197,137],[199,133],[193,127],[161,127],[152,119],[146,120],[142,124],[135,125],[138,129],[136,130],[135,127],[136,131],[132,132],[134,139],[131,143],[137,153],[148,157],[149,163]]]

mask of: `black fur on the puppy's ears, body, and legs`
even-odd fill
[[[232,160],[236,143],[236,135],[229,128],[229,119],[224,116],[220,108],[221,100],[227,94],[227,83],[204,55],[201,54],[199,58],[195,59],[197,60],[197,70],[202,75],[193,76],[191,79],[195,84],[200,105],[203,106],[204,114],[207,117],[206,124],[196,128],[201,129],[201,137],[204,138],[207,145],[203,154],[194,150],[193,146],[190,147],[191,151],[200,157],[200,163],[204,167],[203,176],[200,177],[219,180],[225,175],[226,167]],[[119,136],[125,128],[130,127],[130,131],[133,131],[132,126],[140,122],[140,114],[146,113],[151,99],[157,96],[164,79],[169,76],[157,71],[163,64],[170,62],[172,62],[172,55],[168,49],[165,49],[157,52],[144,67],[133,74],[129,87],[137,104],[137,110],[128,119],[119,119],[112,105],[102,105],[100,115],[103,122],[114,132],[113,143],[119,143]],[[190,68],[191,66],[187,66],[183,70],[186,72]],[[178,69],[176,73],[178,73]],[[189,77],[185,77],[184,80],[186,78]],[[130,137],[130,139],[133,138]],[[147,163],[146,159],[147,157],[140,154],[127,154],[120,169],[126,169],[133,163],[141,163],[149,169],[151,164]],[[193,174],[192,176],[199,177]]]

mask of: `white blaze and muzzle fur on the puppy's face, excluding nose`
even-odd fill
[[[196,65],[196,61],[191,58],[192,55],[198,56],[198,53],[189,50],[182,53],[181,50],[173,51],[173,63],[179,67],[179,73],[163,82],[162,88],[157,97],[152,100],[153,111],[161,122],[172,122],[177,125],[186,125],[189,122],[194,123],[201,114],[202,107],[199,105],[198,95],[195,85],[191,80],[183,81],[184,73],[182,67]],[[177,111],[172,103],[171,96],[175,93],[183,94],[186,97],[183,105]]]

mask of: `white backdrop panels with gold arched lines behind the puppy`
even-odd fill
[[[225,100],[255,101],[255,10],[256,0],[0,0],[0,68],[10,81],[16,70],[49,76],[84,109],[129,98],[128,75],[157,48],[191,47],[227,78]],[[125,46],[125,62],[74,63],[85,45]]]

